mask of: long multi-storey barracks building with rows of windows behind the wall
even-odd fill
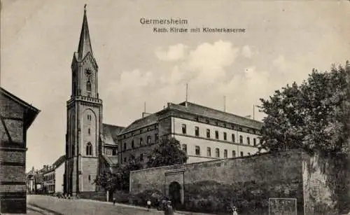
[[[118,135],[119,162],[146,157],[159,139],[179,140],[188,162],[235,158],[258,152],[262,123],[206,106],[183,102],[134,121]]]

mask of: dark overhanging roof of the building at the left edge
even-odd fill
[[[31,104],[28,104],[27,102],[23,101],[19,97],[16,97],[12,93],[8,92],[7,90],[0,88],[0,94],[3,96],[8,97],[9,99],[13,100],[14,102],[17,102],[23,108],[27,109],[27,116],[25,118],[25,127],[29,127],[31,123],[34,122],[36,116],[38,116],[38,113],[40,112],[39,109],[36,109],[34,106],[31,106]]]

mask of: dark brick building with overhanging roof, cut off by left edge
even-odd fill
[[[27,130],[40,111],[0,88],[0,213],[27,212]]]

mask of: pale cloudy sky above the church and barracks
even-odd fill
[[[350,58],[350,1],[2,1],[1,86],[41,109],[27,137],[27,169],[64,154],[71,60],[87,4],[104,123],[190,102],[252,115],[253,104],[312,68]],[[244,34],[155,34],[140,18]],[[262,119],[262,113],[255,117]]]

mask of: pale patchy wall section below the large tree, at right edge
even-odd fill
[[[305,214],[349,212],[349,168],[343,155],[322,158],[304,155],[303,191]]]

